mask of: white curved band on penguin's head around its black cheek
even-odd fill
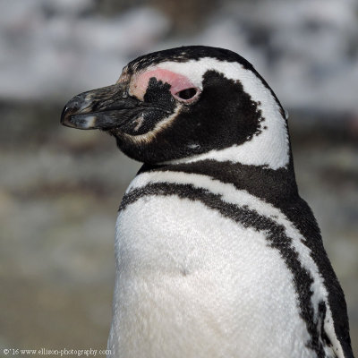
[[[289,141],[286,121],[281,115],[280,107],[271,91],[260,78],[242,64],[219,61],[212,57],[190,60],[184,63],[165,62],[156,65],[190,77],[192,83],[202,89],[203,75],[210,70],[223,73],[234,81],[240,81],[243,90],[257,103],[263,122],[262,131],[254,135],[250,141],[234,145],[226,149],[213,149],[207,153],[171,161],[170,163],[194,162],[204,159],[217,161],[240,162],[245,165],[268,166],[271,169],[285,167],[289,163]]]

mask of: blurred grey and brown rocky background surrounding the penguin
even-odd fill
[[[300,192],[345,290],[358,355],[354,0],[0,0],[0,355],[106,347],[116,210],[140,164],[59,118],[128,60],[189,44],[243,55],[288,110]]]

